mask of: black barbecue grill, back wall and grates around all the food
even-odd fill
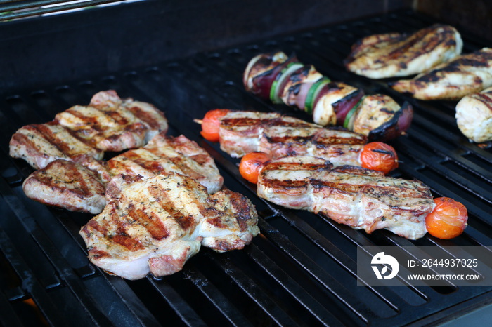
[[[193,13],[207,15],[198,5]],[[448,283],[391,288],[356,282],[360,246],[492,246],[491,145],[468,142],[460,133],[455,102],[414,100],[392,91],[386,81],[355,76],[342,66],[356,39],[394,30],[412,32],[433,19],[405,9],[241,40],[224,29],[224,46],[213,39],[217,36],[207,35],[207,27],[202,36],[208,39],[186,39],[182,29],[180,35],[169,36],[173,23],[186,19],[162,21],[170,16],[169,4],[142,1],[0,25],[2,324],[402,326],[439,324],[491,304],[492,287]],[[471,34],[462,37],[466,53],[487,45]],[[465,204],[470,215],[465,233],[450,241],[432,236],[409,241],[384,230],[365,234],[321,215],[259,199],[254,186],[240,178],[238,160],[201,138],[193,119],[221,107],[309,119],[284,105],[259,100],[242,87],[242,71],[250,58],[276,50],[297,53],[299,60],[332,80],[411,102],[415,117],[410,131],[390,142],[401,160],[392,175],[417,178],[434,196]],[[11,135],[26,124],[50,121],[72,105],[87,104],[94,93],[108,89],[122,98],[153,103],[166,113],[169,134],[184,134],[212,154],[224,185],[257,206],[261,234],[250,246],[223,254],[202,248],[181,272],[125,281],[101,272],[86,258],[78,232],[91,215],[27,199],[22,180],[32,168],[8,156]]]

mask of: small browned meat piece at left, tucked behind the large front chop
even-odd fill
[[[84,166],[58,159],[34,171],[22,183],[26,196],[34,201],[70,211],[100,213],[105,204],[105,187]]]

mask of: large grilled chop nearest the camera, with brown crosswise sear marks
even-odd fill
[[[110,274],[141,279],[179,272],[200,246],[243,248],[259,234],[254,206],[240,194],[210,196],[193,178],[119,175],[108,204],[82,227],[89,259]]]

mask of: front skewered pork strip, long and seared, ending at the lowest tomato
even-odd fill
[[[407,239],[425,235],[425,216],[434,209],[432,194],[422,182],[361,167],[333,168],[329,161],[313,156],[266,162],[257,193],[286,208],[321,213],[368,233],[388,229]]]

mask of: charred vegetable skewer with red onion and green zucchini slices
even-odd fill
[[[243,83],[260,98],[311,114],[316,124],[344,126],[368,140],[397,138],[413,119],[413,107],[408,102],[400,106],[388,95],[365,95],[363,90],[331,81],[312,65],[281,51],[252,58],[243,73]]]

